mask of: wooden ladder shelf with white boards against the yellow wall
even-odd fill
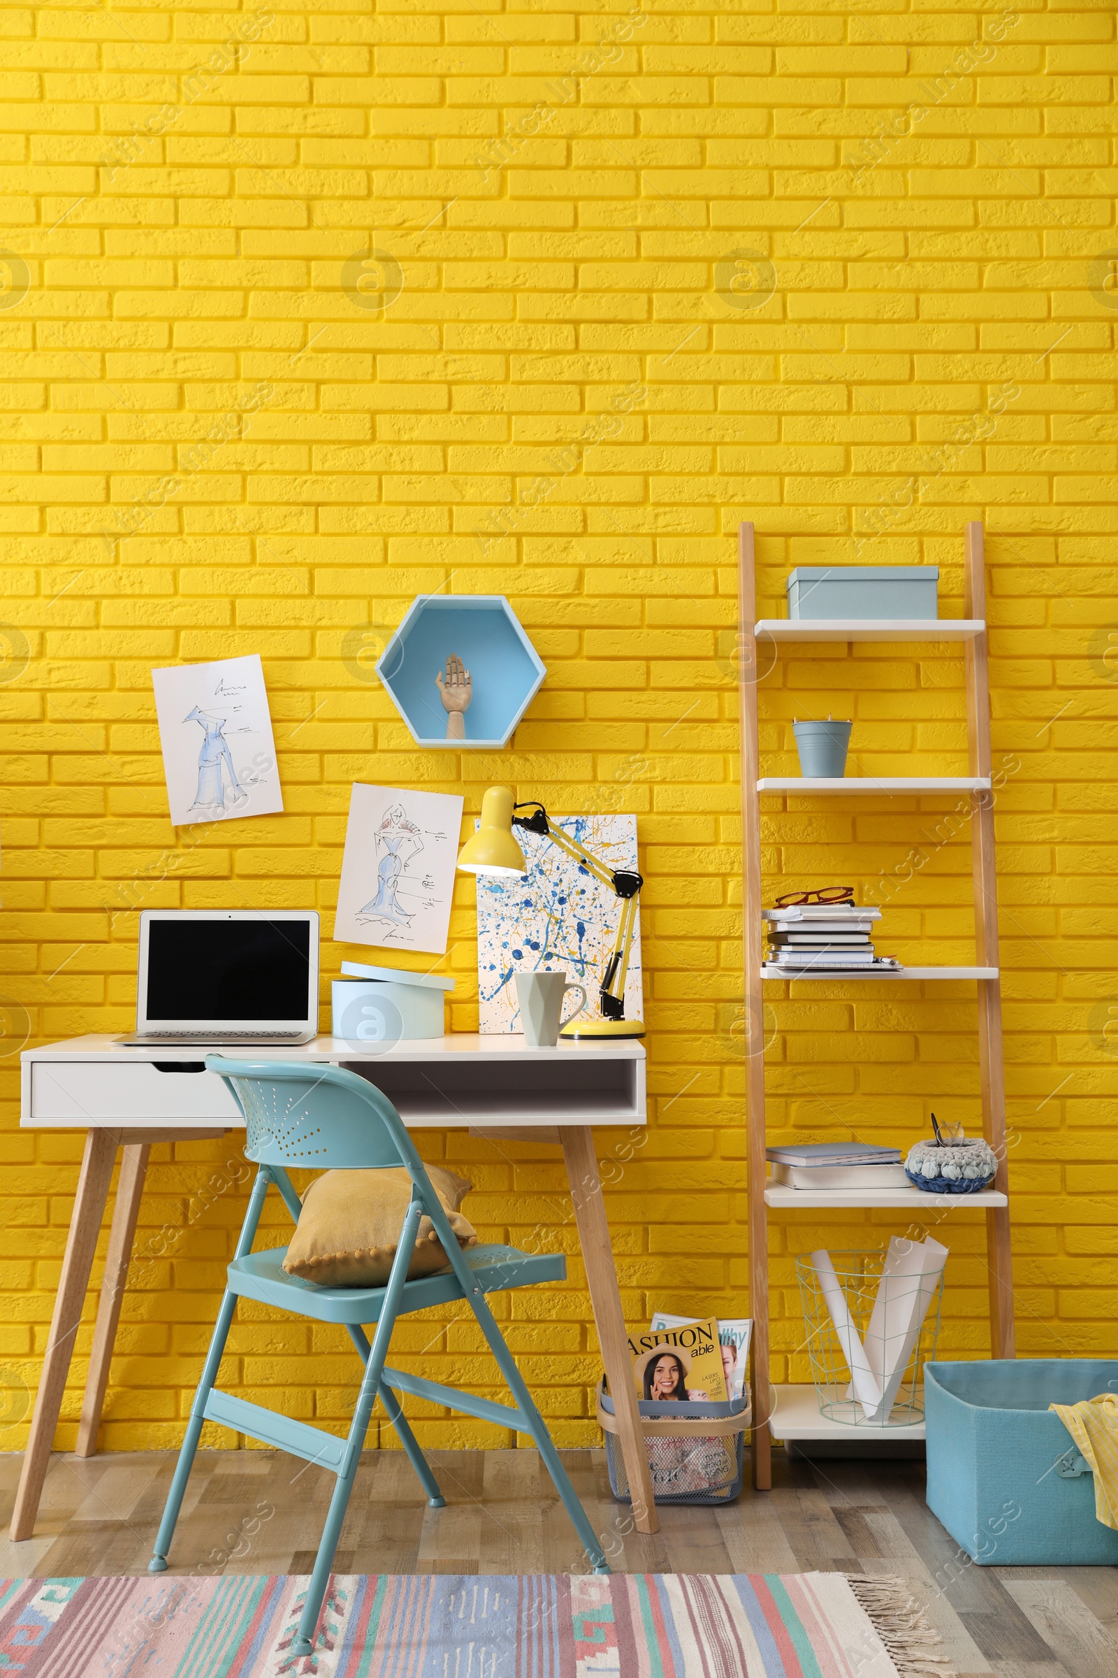
[[[1009,1252],[1009,1206],[1007,1206],[1007,1173],[1006,1173],[1006,1077],[1002,1067],[1002,1003],[1001,978],[997,965],[997,876],[994,869],[994,795],[991,780],[991,690],[989,690],[989,653],[986,629],[986,562],[982,554],[982,525],[965,527],[965,599],[964,623],[957,619],[940,619],[944,639],[964,639],[965,648],[965,690],[967,690],[967,738],[970,750],[970,777],[986,787],[970,790],[970,846],[974,864],[974,933],[976,933],[976,968],[914,968],[908,977],[920,978],[962,978],[974,977],[979,988],[979,1072],[982,1086],[982,1128],[986,1139],[997,1154],[997,1176],[986,1203],[986,1243],[991,1290],[991,1346],[994,1358],[1014,1356],[1014,1321],[1012,1321],[1012,1270]],[[764,1000],[761,973],[761,750],[758,737],[758,612],[756,612],[756,577],[753,525],[741,525],[739,547],[739,705],[741,705],[741,869],[743,869],[743,960],[744,960],[744,1005],[746,1005],[746,1124],[748,1124],[748,1191],[749,1191],[749,1309],[753,1312],[753,1480],[759,1490],[771,1487],[771,1381],[769,1381],[769,1265],[768,1265],[768,1215],[766,1201],[766,1158],[764,1158]],[[846,633],[841,639],[890,638],[890,624],[865,624],[865,634],[858,633],[858,624],[843,624]],[[813,634],[813,631],[816,631]],[[937,629],[929,624],[927,634],[922,626],[892,626],[897,639],[925,641],[937,639]],[[781,621],[779,631],[769,636],[773,649],[779,649],[784,641],[793,639],[840,639],[836,631],[823,621],[800,621],[796,624]],[[888,784],[887,784],[888,785]],[[880,782],[851,782],[850,792],[872,792]],[[776,790],[776,789],[774,789]],[[788,790],[786,785],[779,789]],[[833,790],[821,787],[820,790]],[[935,785],[895,787],[897,792],[927,790],[935,792]],[[805,785],[805,795],[811,794],[811,784]],[[984,977],[977,977],[981,970]],[[905,975],[898,975],[903,978]],[[821,977],[820,983],[828,980]],[[830,983],[851,983],[850,977],[831,978]],[[880,983],[877,978],[867,983]],[[880,1193],[880,1191],[878,1191]],[[903,1193],[903,1191],[902,1191]],[[914,1190],[914,1195],[919,1190]],[[848,1205],[850,1201],[843,1201]],[[867,1205],[870,1201],[867,1200]],[[880,1201],[878,1201],[880,1203]],[[965,1208],[967,1198],[960,1196]]]

